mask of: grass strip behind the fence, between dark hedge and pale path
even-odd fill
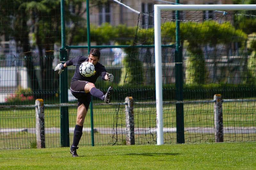
[[[224,126],[228,123],[239,124],[236,126],[250,127],[255,124],[255,102],[225,102],[223,103]],[[69,107],[69,122],[76,123],[77,107]],[[94,125],[113,127],[113,118],[116,114],[116,105],[93,106]],[[124,105],[119,108],[119,120],[125,123]],[[137,127],[154,127],[156,125],[155,105],[134,105],[134,123]],[[44,108],[45,127],[60,127],[60,107]],[[164,105],[163,107],[164,126],[172,124],[176,126],[175,104]],[[185,127],[214,126],[213,103],[189,103],[184,104],[184,125]],[[90,109],[86,115],[84,127],[90,127]],[[35,109],[33,108],[7,108],[0,110],[0,128],[30,128],[35,127]]]

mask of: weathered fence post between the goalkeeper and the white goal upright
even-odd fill
[[[133,115],[133,98],[125,98],[125,122],[126,122],[126,144],[135,144],[134,140],[134,115]]]

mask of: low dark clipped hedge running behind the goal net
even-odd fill
[[[255,98],[256,87],[186,87],[184,88],[184,100],[213,99],[214,94],[221,94],[223,99]],[[147,89],[115,89],[112,100],[124,100],[126,96],[132,96],[134,100],[156,100],[155,88]],[[163,100],[176,100],[175,88],[163,88]]]

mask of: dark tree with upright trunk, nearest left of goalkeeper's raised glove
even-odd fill
[[[60,1],[44,0],[30,1],[20,5],[32,21],[29,25],[34,28],[34,37],[39,51],[41,98],[45,99],[54,94],[49,89],[55,89],[53,80],[52,61],[54,59],[54,44],[60,37]],[[52,17],[54,16],[54,17]],[[57,36],[56,36],[57,35]],[[59,35],[59,36],[58,36]]]

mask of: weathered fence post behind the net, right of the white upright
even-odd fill
[[[215,94],[214,100],[215,142],[223,142],[223,115],[221,94]]]

